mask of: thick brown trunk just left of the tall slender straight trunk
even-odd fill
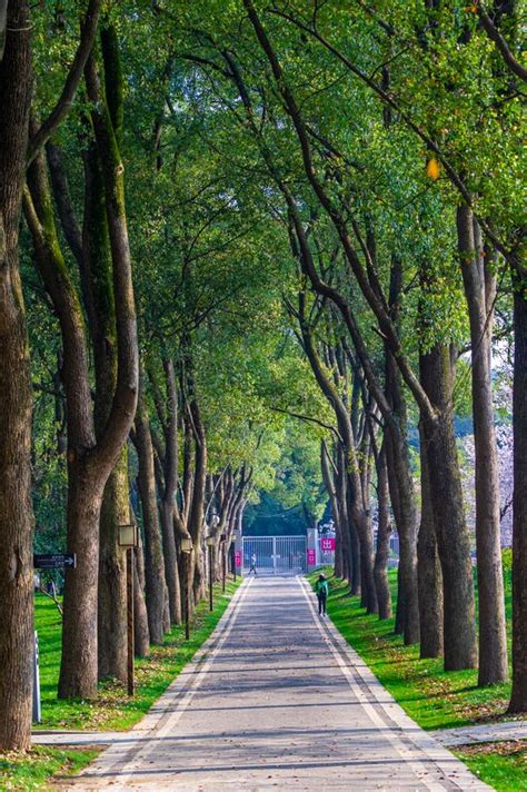
[[[445,671],[474,669],[477,641],[470,539],[465,523],[457,458],[450,352],[436,346],[420,356],[421,383],[437,413],[421,416],[430,501],[445,597]]]

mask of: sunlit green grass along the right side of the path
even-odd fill
[[[367,616],[359,597],[348,595],[347,584],[325,570],[330,584],[328,613],[346,641],[358,652],[402,709],[424,729],[447,729],[506,719],[510,683],[477,686],[477,671],[445,672],[443,660],[419,660],[418,646],[404,646],[394,634],[395,620]],[[318,573],[309,576],[315,583]],[[389,572],[394,611],[397,573]],[[506,573],[507,627],[511,626],[510,573]],[[464,761],[497,790],[527,790],[525,750],[463,752]],[[465,756],[467,756],[465,759]],[[510,774],[513,785],[504,781]],[[501,784],[501,785],[500,785]],[[524,785],[521,785],[524,784]]]

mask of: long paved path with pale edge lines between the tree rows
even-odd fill
[[[81,790],[488,790],[394,702],[301,578],[251,578]]]

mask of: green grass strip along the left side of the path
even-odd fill
[[[95,701],[59,701],[57,683],[61,650],[61,617],[54,604],[43,595],[36,597],[36,628],[39,633],[42,723],[39,729],[126,730],[137,723],[161,695],[181,669],[212,633],[233,593],[241,583],[228,582],[226,594],[217,586],[215,608],[201,602],[195,614],[190,640],[185,628],[173,627],[161,646],[152,646],[150,656],[136,661],[136,696],[129,699],[126,686],[115,680],[99,685]],[[0,790],[44,789],[52,775],[76,773],[98,751],[59,750],[36,746],[28,754],[0,754]]]

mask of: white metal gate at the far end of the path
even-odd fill
[[[298,575],[306,572],[305,536],[243,536],[243,573],[255,561],[256,573],[264,575]]]

